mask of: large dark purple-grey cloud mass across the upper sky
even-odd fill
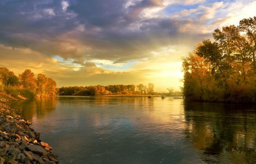
[[[186,20],[140,18],[162,0],[2,0],[0,44],[25,47],[46,56],[115,62],[140,60],[159,45],[177,44]],[[186,35],[186,34],[184,34]],[[176,38],[176,39],[175,39]]]

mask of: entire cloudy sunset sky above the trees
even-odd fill
[[[62,86],[182,86],[182,57],[254,0],[1,0],[0,67]]]

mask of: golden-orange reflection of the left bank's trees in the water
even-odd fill
[[[14,102],[11,105],[14,108],[22,110],[22,117],[32,120],[33,117],[40,117],[47,115],[56,108],[55,97],[49,98],[35,98]]]

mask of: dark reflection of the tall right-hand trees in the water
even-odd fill
[[[185,134],[206,163],[256,163],[256,109],[250,104],[185,103]]]

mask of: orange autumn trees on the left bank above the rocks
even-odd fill
[[[41,73],[35,78],[30,69],[16,76],[14,72],[2,67],[0,68],[0,92],[7,92],[15,97],[22,95],[26,98],[54,96],[56,82]]]

